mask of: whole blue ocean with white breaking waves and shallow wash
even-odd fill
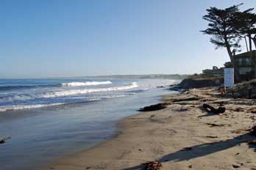
[[[34,169],[96,146],[116,122],[160,102],[176,80],[44,78],[0,80],[0,167]],[[164,86],[164,87],[161,87]],[[160,88],[161,87],[161,88]]]

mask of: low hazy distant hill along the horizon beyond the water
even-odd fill
[[[123,78],[123,79],[172,79],[182,80],[188,78],[189,75],[179,74],[153,74],[153,75],[99,75],[99,76],[86,76],[85,78]]]

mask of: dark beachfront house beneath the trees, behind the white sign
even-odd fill
[[[238,75],[241,81],[248,81],[255,75],[256,51],[235,55],[235,64],[238,66]]]

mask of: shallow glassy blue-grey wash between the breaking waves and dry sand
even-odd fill
[[[135,80],[116,80],[111,86],[130,82]],[[1,113],[1,138],[8,138],[1,144],[1,168],[38,169],[108,140],[116,132],[118,120],[138,114],[138,108],[160,102],[160,96],[169,93],[168,86],[156,88],[158,84],[173,82],[138,81],[138,88],[121,90],[102,100]],[[115,97],[121,94],[125,96]]]

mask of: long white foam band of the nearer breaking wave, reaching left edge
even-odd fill
[[[99,88],[99,89],[69,89],[56,92],[46,92],[40,94],[29,94],[29,95],[15,95],[10,97],[3,97],[0,99],[0,103],[13,102],[18,100],[35,100],[40,98],[53,98],[53,97],[67,97],[73,95],[83,95],[92,92],[110,92],[110,91],[121,91],[126,89],[133,89],[138,87],[136,82],[126,86],[113,86],[108,88]]]

